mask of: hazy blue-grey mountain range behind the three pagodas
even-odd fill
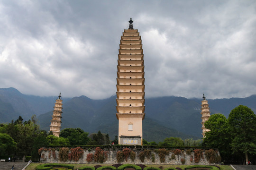
[[[0,123],[9,123],[21,116],[24,120],[37,115],[41,129],[49,131],[52,110],[58,97],[25,95],[15,88],[0,88]],[[118,136],[116,96],[92,100],[86,96],[62,98],[63,128],[82,128],[85,132],[101,131],[113,139]],[[226,117],[238,105],[247,105],[256,112],[256,95],[246,98],[207,99],[211,114]],[[146,98],[143,138],[160,142],[166,137],[201,138],[201,99],[166,96]]]

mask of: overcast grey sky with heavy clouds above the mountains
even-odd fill
[[[1,0],[0,88],[114,95],[130,17],[142,38],[146,98],[256,94],[256,0]]]

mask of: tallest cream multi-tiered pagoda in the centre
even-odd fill
[[[142,145],[145,117],[145,78],[141,36],[130,19],[120,40],[117,71],[117,119],[119,144]]]

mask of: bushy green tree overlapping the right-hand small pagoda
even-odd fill
[[[204,126],[210,129],[205,133],[203,145],[210,148],[218,148],[222,158],[230,157],[230,143],[228,119],[223,114],[217,113],[210,116]]]

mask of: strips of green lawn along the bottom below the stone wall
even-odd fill
[[[28,165],[28,167],[26,168],[26,170],[36,170],[36,166],[42,164],[42,163],[30,163],[30,165]],[[67,163],[68,164],[68,163]],[[74,170],[76,168],[80,168],[82,166],[95,166],[95,165],[102,165],[102,166],[107,166],[107,165],[112,165],[112,164],[68,164],[68,165],[73,165],[74,166]],[[165,168],[181,168],[184,170],[185,167],[187,167],[188,165],[146,165],[147,167],[157,167],[159,168],[160,166],[163,167],[163,169]],[[200,165],[199,165],[200,166]],[[219,165],[220,170],[233,170],[233,168],[229,165]]]

